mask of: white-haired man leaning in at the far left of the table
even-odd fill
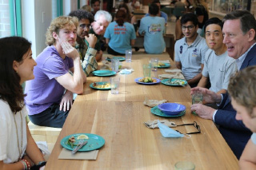
[[[94,34],[97,38],[97,43],[95,44],[95,48],[97,50],[96,60],[100,61],[102,59],[102,49],[101,49],[101,36],[104,35],[106,31],[106,27],[109,26],[112,21],[112,16],[110,13],[104,10],[98,10],[98,12],[94,15],[94,22],[91,23],[92,28],[89,31],[89,34]]]

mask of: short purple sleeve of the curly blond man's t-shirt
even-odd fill
[[[54,77],[60,77],[68,73],[68,69],[70,69],[69,65],[65,65],[64,60],[58,56],[52,56],[47,58],[42,66],[43,73],[45,73],[46,76],[49,77],[49,79],[53,79]]]

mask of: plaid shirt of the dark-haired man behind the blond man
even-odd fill
[[[98,63],[95,58],[97,50],[88,47],[85,42],[82,44],[76,43],[75,48],[80,55],[82,69],[86,73],[86,76],[89,76],[91,72],[98,68]]]

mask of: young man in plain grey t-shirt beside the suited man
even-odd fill
[[[237,70],[234,58],[227,55],[226,45],[223,43],[223,22],[218,18],[210,18],[205,25],[206,51],[202,78],[198,87],[207,87],[210,79],[210,90],[215,93],[226,93],[230,76]]]

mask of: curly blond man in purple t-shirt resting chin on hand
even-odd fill
[[[46,49],[36,58],[34,80],[26,81],[26,109],[35,125],[62,128],[73,104],[73,93],[83,92],[77,39],[78,18],[58,17],[46,32]],[[73,73],[71,75],[69,72]]]

